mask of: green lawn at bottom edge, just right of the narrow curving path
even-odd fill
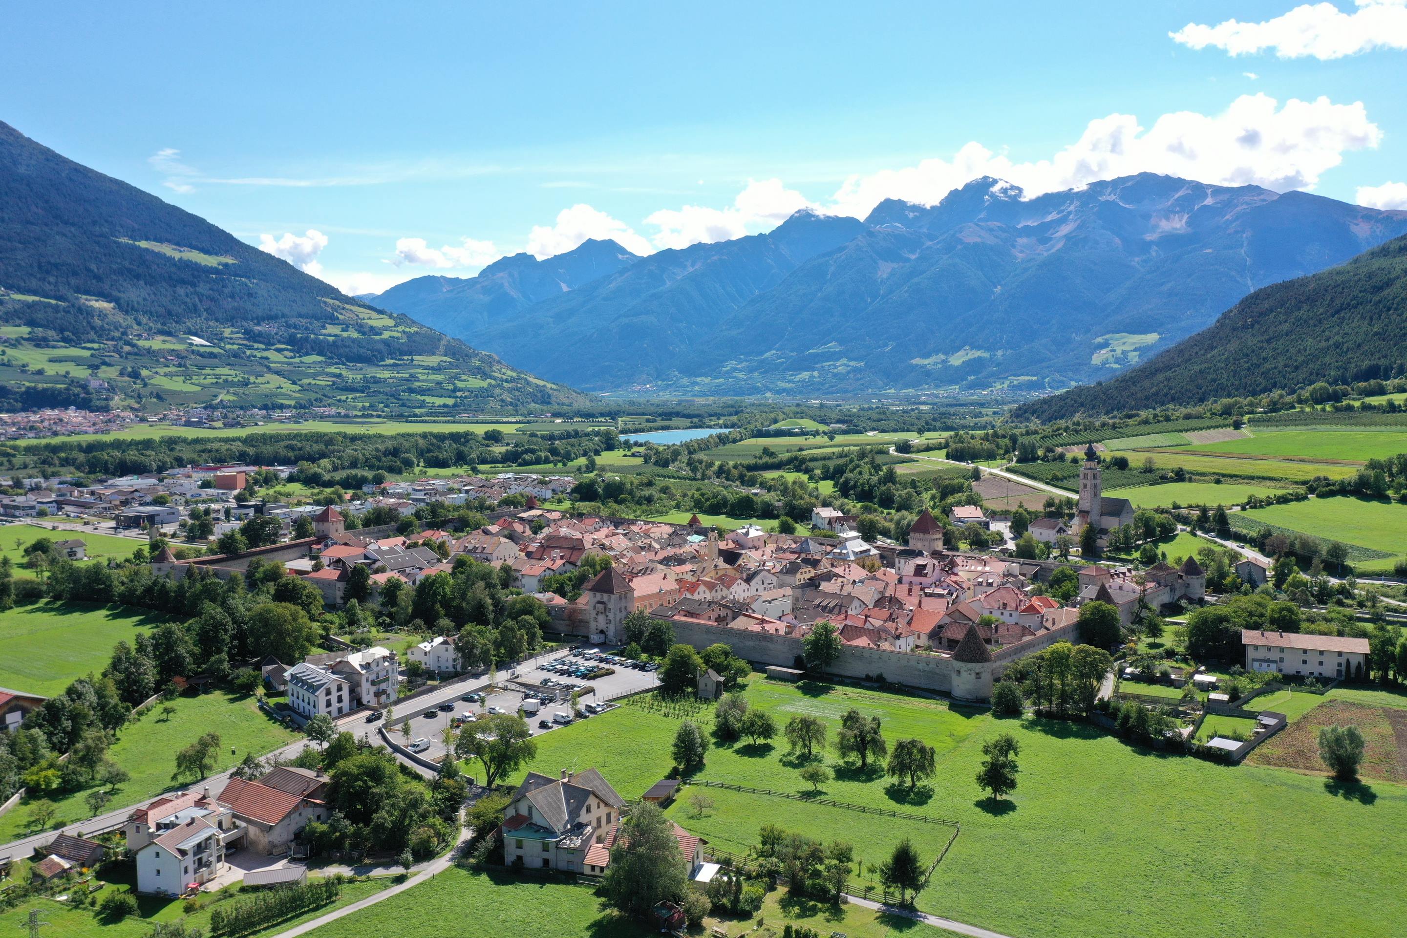
[[[310,938],[643,938],[587,886],[450,866],[435,879],[308,932]]]

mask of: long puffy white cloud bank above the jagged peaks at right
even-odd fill
[[[1016,183],[1029,197],[1142,172],[1276,191],[1313,188],[1345,152],[1377,146],[1380,138],[1361,101],[1290,98],[1279,107],[1265,94],[1244,94],[1221,114],[1176,111],[1151,128],[1131,114],[1110,114],[1090,121],[1075,143],[1037,162],[1016,163],[974,141],[951,160],[934,158],[851,176],[827,211],[864,218],[884,198],[931,205],[981,176]]]

